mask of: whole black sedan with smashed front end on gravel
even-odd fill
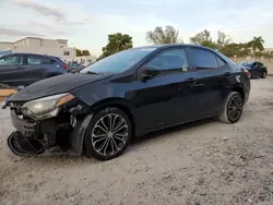
[[[21,156],[59,146],[100,160],[119,156],[132,137],[218,117],[240,119],[249,73],[222,53],[192,45],[133,48],[78,74],[37,82],[8,100]]]

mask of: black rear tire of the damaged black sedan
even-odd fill
[[[232,100],[238,100],[238,107],[234,106],[233,105],[234,101]],[[219,120],[224,123],[229,123],[229,124],[238,122],[242,113],[242,108],[244,108],[242,96],[238,92],[232,92],[226,98],[226,101],[224,104],[224,110],[219,114]],[[238,113],[234,114],[234,112],[237,111]]]

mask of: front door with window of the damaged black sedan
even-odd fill
[[[154,130],[194,118],[197,105],[195,72],[188,63],[183,48],[158,53],[147,67],[157,68],[159,74],[145,82],[138,81],[133,97],[136,124],[144,130]]]

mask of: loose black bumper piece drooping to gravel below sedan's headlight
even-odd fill
[[[8,137],[8,146],[13,154],[24,157],[45,152],[44,146],[37,140],[28,138],[19,131],[11,133]]]

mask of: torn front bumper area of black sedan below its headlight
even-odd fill
[[[71,120],[59,123],[55,118],[36,122],[25,120],[15,110],[11,110],[11,121],[16,131],[8,137],[8,145],[12,153],[20,156],[39,155],[52,147],[61,147],[70,155],[80,156],[92,117],[92,113],[80,118],[73,116],[73,123]]]

